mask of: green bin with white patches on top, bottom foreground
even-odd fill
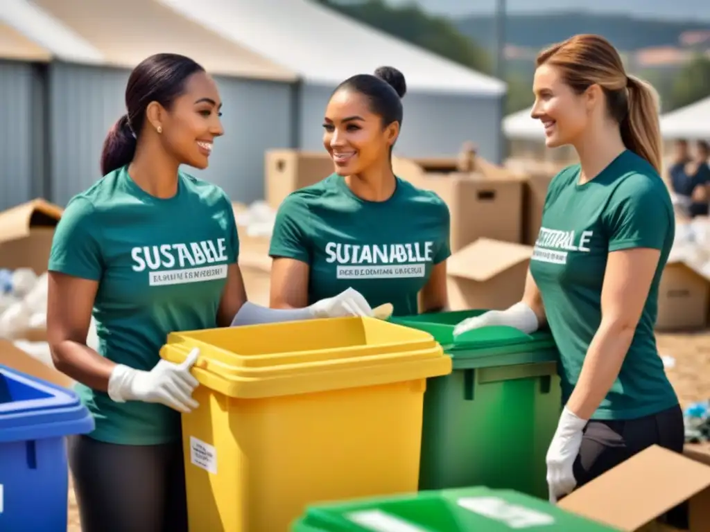
[[[529,495],[485,487],[311,506],[292,532],[612,532]],[[618,532],[618,531],[617,531]]]

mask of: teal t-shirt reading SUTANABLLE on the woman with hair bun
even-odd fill
[[[309,304],[353,287],[372,307],[417,314],[432,266],[451,255],[449,208],[403,179],[387,201],[365,201],[332,174],[283,201],[269,254],[310,266]]]

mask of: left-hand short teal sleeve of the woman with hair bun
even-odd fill
[[[269,255],[310,264],[310,243],[307,238],[309,223],[310,212],[305,201],[297,194],[288,196],[276,213]]]

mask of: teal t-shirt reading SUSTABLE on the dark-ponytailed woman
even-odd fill
[[[99,282],[99,354],[151,370],[168,333],[217,326],[227,265],[238,252],[234,211],[222,189],[180,172],[178,194],[158,199],[124,167],[69,202],[49,270]],[[77,392],[96,420],[92,438],[128,445],[180,439],[180,414],[167,406],[116,403],[83,384]]]

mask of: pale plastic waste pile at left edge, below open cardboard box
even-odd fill
[[[46,331],[47,289],[46,273],[38,276],[30,268],[0,270],[0,338],[23,340],[28,331]],[[98,345],[93,320],[87,345]]]

